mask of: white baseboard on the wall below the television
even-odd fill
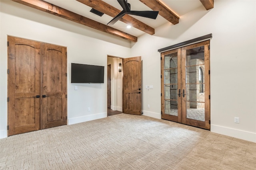
[[[93,114],[93,115],[86,115],[82,117],[74,117],[68,119],[68,125],[76,124],[76,123],[82,123],[85,121],[91,121],[95,119],[102,119],[104,117],[107,117],[107,113],[98,113],[98,114]]]

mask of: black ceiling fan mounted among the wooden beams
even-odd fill
[[[114,23],[116,23],[116,21],[120,20],[125,14],[142,16],[142,17],[151,18],[151,19],[156,19],[158,15],[158,11],[131,11],[131,4],[129,4],[127,0],[117,0],[117,1],[122,6],[123,10],[108,23],[110,25],[113,25]]]

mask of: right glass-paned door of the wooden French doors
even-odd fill
[[[182,47],[182,123],[210,129],[209,41]],[[208,70],[206,70],[208,69]],[[207,73],[207,74],[206,74]],[[207,82],[207,83],[206,83]]]

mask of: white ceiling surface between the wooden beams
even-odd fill
[[[102,17],[97,16],[96,14],[93,14],[92,12],[90,12],[90,10],[92,9],[91,7],[86,6],[76,0],[44,0],[44,1],[54,4],[56,6],[59,6],[61,8],[64,8],[66,10],[72,11],[86,18],[90,18],[92,20],[98,21],[105,25],[110,20],[113,19],[112,17],[106,14],[104,14]],[[117,2],[117,0],[103,0],[103,1],[110,4],[111,6],[114,6],[119,10],[122,10],[122,7]],[[200,0],[161,0],[161,2],[166,6],[168,6],[168,8],[170,8],[170,10],[172,10],[172,12],[174,12],[178,16],[182,16],[202,6],[202,3],[200,2]],[[151,10],[148,6],[146,6],[139,0],[128,0],[128,3],[131,4],[131,10],[138,10],[138,11]],[[143,23],[146,23],[147,25],[153,28],[159,27],[160,25],[163,25],[164,23],[169,22],[160,15],[157,16],[156,20],[152,20],[152,19],[144,18],[140,16],[132,16],[132,17],[142,21]],[[139,29],[136,29],[134,27],[131,27],[130,29],[126,28],[127,25],[128,24],[122,21],[117,21],[114,25],[109,25],[109,26],[119,29],[121,31],[124,31],[126,33],[129,33],[131,35],[134,35],[136,37],[144,34],[143,31],[140,31]]]

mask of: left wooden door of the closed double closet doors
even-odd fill
[[[40,129],[40,43],[8,36],[8,136]],[[37,98],[37,97],[38,98]]]

